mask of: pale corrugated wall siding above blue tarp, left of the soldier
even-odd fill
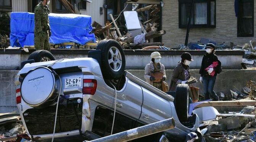
[[[11,0],[12,12],[28,12],[28,0]]]

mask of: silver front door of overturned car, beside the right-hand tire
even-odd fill
[[[139,121],[149,124],[172,117],[172,109],[169,101],[144,87],[142,87],[142,90],[143,105]]]

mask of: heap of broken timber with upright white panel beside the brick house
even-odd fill
[[[124,49],[170,50],[163,47],[159,39],[166,33],[165,30],[159,28],[160,5],[133,4],[133,11],[122,12],[118,16],[109,14],[112,22],[107,21],[104,27],[93,22],[92,32],[98,40],[115,39]],[[118,19],[119,17],[124,18]]]

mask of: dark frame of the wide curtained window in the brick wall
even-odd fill
[[[191,28],[215,28],[216,27],[216,0],[194,0],[195,3],[207,3],[207,24],[190,24]],[[211,2],[214,2],[214,25],[211,25]],[[179,14],[179,28],[187,28],[187,25],[181,25],[181,5],[184,3],[191,3],[191,0],[179,0],[178,1],[178,14]],[[193,19],[194,19],[194,8],[193,10]]]

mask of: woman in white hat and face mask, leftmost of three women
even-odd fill
[[[164,65],[160,63],[162,57],[159,52],[153,52],[150,57],[151,62],[145,67],[144,78],[148,84],[162,90],[162,81],[166,79]]]

